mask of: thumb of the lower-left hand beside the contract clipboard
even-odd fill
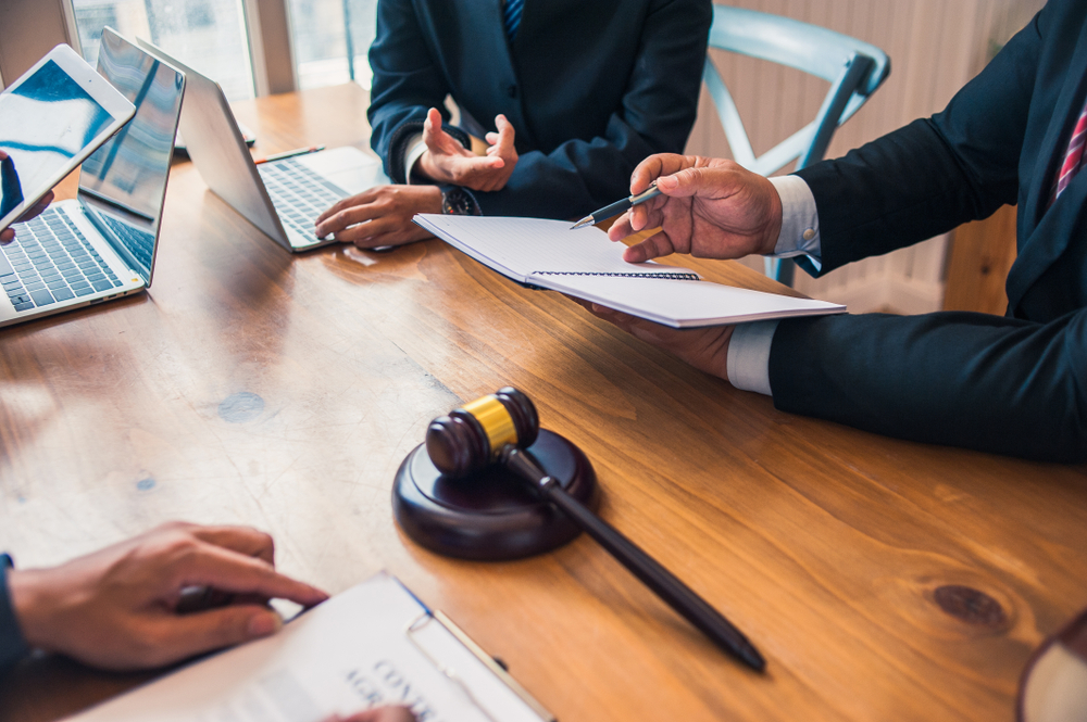
[[[154,635],[165,664],[222,647],[259,639],[283,628],[279,615],[260,605],[237,605],[192,615],[167,615],[160,618]]]

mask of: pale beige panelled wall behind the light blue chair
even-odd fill
[[[995,46],[1025,25],[1044,0],[736,0],[730,4],[787,15],[883,48],[891,74],[836,134],[827,157],[842,155],[910,121],[932,115],[984,67]],[[814,117],[828,85],[798,71],[714,51],[757,154]],[[728,157],[712,103],[702,92],[689,153]],[[786,168],[785,172],[791,168]],[[867,258],[821,279],[798,271],[809,295],[853,312],[925,313],[944,301],[948,239],[939,237]],[[750,259],[761,270],[760,259]]]

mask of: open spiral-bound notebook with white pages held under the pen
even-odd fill
[[[564,220],[432,214],[414,220],[515,281],[675,328],[846,312],[826,301],[713,283],[686,268],[627,263],[622,243],[599,228],[571,230]]]

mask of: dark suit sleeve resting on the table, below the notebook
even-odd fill
[[[1087,461],[1087,309],[1049,324],[987,314],[783,320],[782,410],[913,441]]]

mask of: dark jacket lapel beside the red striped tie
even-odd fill
[[[1023,243],[1019,255],[1023,263],[1013,265],[1008,276],[1005,290],[1011,309],[1020,304],[1030,286],[1067,248],[1072,236],[1063,228],[1061,219],[1069,213],[1078,214],[1087,198],[1087,168],[1084,168],[1061,193],[1060,201],[1051,208],[1047,208],[1053,178],[1064,162],[1069,136],[1085,100],[1087,24],[1080,29],[1079,39],[1067,67],[1061,94],[1053,107],[1052,117],[1035,159],[1034,180],[1027,191],[1024,207],[1020,208],[1020,238],[1023,239]]]

